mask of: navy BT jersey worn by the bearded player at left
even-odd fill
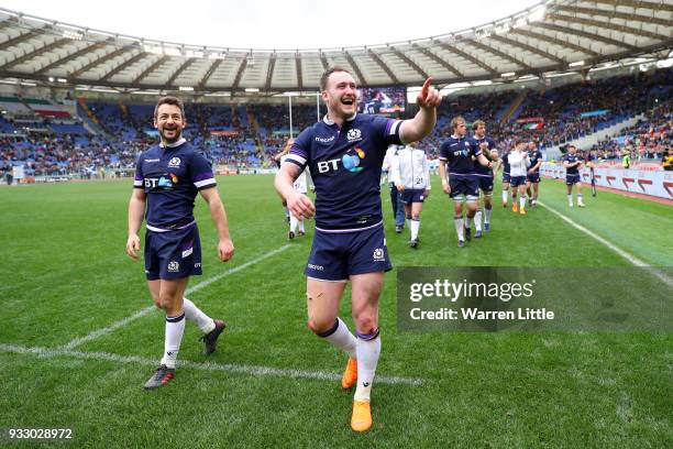
[[[194,222],[198,190],[214,187],[210,163],[184,139],[153,145],[137,158],[133,187],[147,194],[147,229],[169,231]]]

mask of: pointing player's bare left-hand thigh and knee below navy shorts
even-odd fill
[[[345,284],[345,281],[307,280],[306,305],[311,330],[323,332],[334,325]]]

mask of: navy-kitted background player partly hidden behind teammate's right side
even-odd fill
[[[482,150],[484,157],[489,160],[492,164],[498,160],[498,150],[495,141],[486,136],[486,123],[483,120],[475,120],[472,123],[474,134],[472,140]],[[475,174],[479,180],[479,190],[484,195],[484,209],[477,207],[474,216],[475,236],[477,239],[482,237],[482,215],[484,216],[484,230],[490,229],[490,215],[493,212],[493,168],[485,167],[482,164],[474,164]]]

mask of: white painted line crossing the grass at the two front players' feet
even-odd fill
[[[44,358],[69,357],[80,360],[98,360],[109,361],[114,363],[137,363],[146,366],[156,368],[156,359],[147,359],[139,355],[121,355],[110,352],[86,352],[75,351],[71,349],[49,349],[49,348],[27,348],[19,344],[0,343],[0,352],[9,352],[16,354],[32,354]],[[255,375],[255,376],[276,376],[276,377],[294,377],[294,379],[313,379],[319,381],[338,382],[341,380],[341,374],[330,373],[326,371],[307,371],[307,370],[285,370],[273,366],[260,365],[242,365],[242,364],[222,364],[211,362],[192,362],[189,360],[178,360],[178,368],[188,368],[202,371],[229,371],[233,373]],[[404,384],[404,385],[421,385],[422,379],[399,377],[377,375],[377,383],[384,384]]]

